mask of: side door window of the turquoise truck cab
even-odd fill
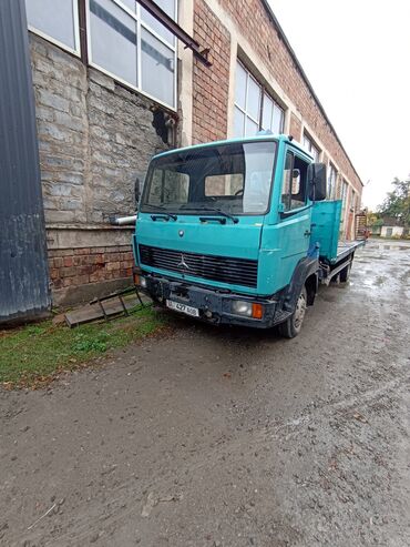
[[[284,211],[293,211],[306,204],[306,180],[308,164],[291,152],[286,154],[281,203]]]

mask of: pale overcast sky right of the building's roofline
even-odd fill
[[[376,210],[410,174],[410,0],[269,0]]]

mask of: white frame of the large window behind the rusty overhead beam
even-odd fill
[[[93,62],[93,60],[92,60],[93,59],[92,58],[92,44],[91,44],[91,24],[90,24],[91,23],[91,21],[90,21],[90,18],[91,18],[90,17],[91,16],[90,0],[85,0],[86,53],[88,53],[89,67],[92,67],[92,68],[99,70],[100,72],[102,72],[103,74],[109,75],[110,78],[112,78],[116,82],[120,82],[124,87],[126,87],[133,91],[137,91],[139,93],[143,94],[144,97],[147,97],[148,99],[156,102],[157,104],[162,104],[166,109],[172,110],[173,112],[176,112],[177,111],[177,38],[174,37],[175,38],[174,44],[171,44],[162,36],[160,36],[154,29],[152,29],[150,27],[150,24],[144,22],[141,18],[141,4],[137,1],[135,1],[136,12],[133,12],[127,6],[122,3],[121,0],[110,0],[110,1],[115,3],[120,9],[122,9],[127,16],[132,17],[136,22],[136,40],[137,40],[137,43],[136,43],[136,80],[137,80],[137,85],[133,85],[132,83],[127,82],[123,78],[115,75],[114,73],[104,69],[103,67],[100,67],[100,64]],[[178,18],[178,1],[175,0],[175,13],[174,13],[175,21],[177,21],[177,18]],[[142,36],[142,32],[141,32],[141,29],[142,28],[145,29],[150,34],[152,34],[156,40],[158,40],[163,45],[165,45],[166,48],[172,50],[174,53],[173,54],[173,60],[174,60],[174,83],[173,83],[174,105],[171,105],[171,104],[162,101],[161,99],[153,97],[151,93],[147,93],[146,91],[144,91],[142,89],[142,85],[141,85],[141,83],[142,83],[141,82],[141,80],[142,80],[142,64],[141,64],[141,36]]]

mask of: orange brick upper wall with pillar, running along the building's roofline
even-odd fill
[[[284,41],[281,40],[274,21],[268,14],[262,0],[214,0],[209,1],[209,4],[218,4],[218,12],[224,10],[224,17],[221,19],[232,21],[234,30],[238,37],[238,43],[244,37],[253,49],[257,59],[264,62],[268,67],[270,74],[265,74],[269,81],[276,81],[281,88],[281,91],[290,99],[295,105],[297,112],[301,114],[303,121],[308,124],[310,131],[314,133],[322,145],[330,153],[334,162],[344,172],[345,176],[355,185],[359,193],[361,193],[361,183],[356,174],[349,159],[340,146],[335,133],[331,131],[326,118],[324,117],[318,103],[311,95],[311,92],[306,84],[301,73],[299,72],[294,59],[287,50]],[[228,30],[221,27],[221,21],[215,17],[214,12],[204,4],[203,0],[196,0],[194,4],[194,28],[196,36],[201,38],[201,43],[208,44],[214,51],[215,57],[219,58],[219,49],[215,49],[215,44],[223,43],[223,50],[229,52],[229,32],[234,32],[230,24]],[[223,34],[224,39],[221,39]],[[252,71],[252,67],[249,70]],[[258,70],[259,67],[256,67]],[[194,95],[193,105],[193,134],[195,141],[211,140],[208,136],[217,135],[217,138],[226,136],[226,132],[222,135],[226,125],[226,114],[219,112],[216,123],[213,117],[213,112],[216,111],[218,105],[227,104],[226,98],[228,91],[226,90],[224,79],[226,78],[226,70],[228,70],[227,58],[222,57],[217,60],[212,68],[211,80],[216,85],[216,91],[209,92],[208,89],[203,87],[203,72],[208,69],[198,69],[194,71],[194,89],[201,90],[199,95]],[[256,71],[255,70],[255,71]],[[205,93],[205,97],[203,95]],[[229,109],[233,109],[233,104],[228,104]],[[211,113],[211,115],[208,114]],[[199,123],[199,119],[204,115],[205,119],[212,121],[215,125],[214,132],[208,129],[204,131]],[[301,139],[301,124],[300,121],[294,115],[290,115],[290,133],[297,139]]]

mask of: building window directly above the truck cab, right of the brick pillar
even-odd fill
[[[235,136],[253,136],[262,129],[284,131],[285,112],[255,78],[236,63]]]

